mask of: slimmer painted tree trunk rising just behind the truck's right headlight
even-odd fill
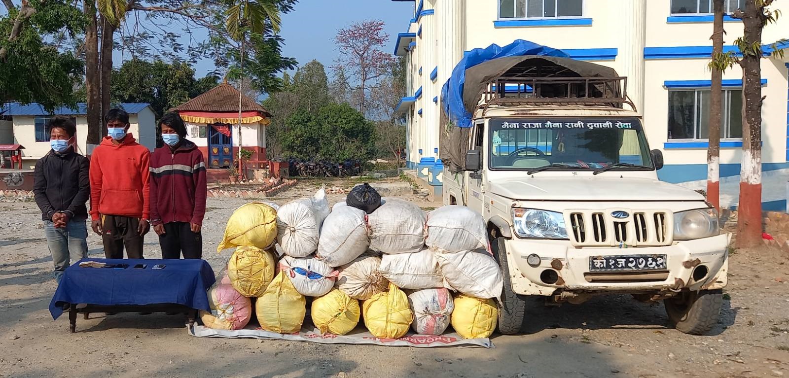
[[[720,208],[720,125],[723,121],[722,86],[723,71],[726,64],[724,54],[724,0],[712,0],[714,21],[712,22],[712,84],[709,93],[709,147],[707,148],[707,200],[715,208]],[[720,64],[722,63],[723,64]]]

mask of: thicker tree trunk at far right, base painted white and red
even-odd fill
[[[737,218],[737,245],[741,248],[761,244],[761,32],[780,14],[770,9],[772,2],[746,0],[745,9],[732,14],[743,24],[742,37],[735,40],[742,58],[726,55],[729,62],[742,67],[742,162]],[[779,43],[787,43],[787,39],[772,44],[774,54],[783,58],[783,51],[777,48]]]

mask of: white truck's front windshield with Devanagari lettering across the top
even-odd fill
[[[653,170],[638,118],[493,118],[492,170]]]

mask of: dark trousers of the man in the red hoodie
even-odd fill
[[[137,232],[139,218],[119,215],[102,215],[102,241],[104,256],[108,259],[122,259],[123,249],[129,259],[143,258],[143,235]]]

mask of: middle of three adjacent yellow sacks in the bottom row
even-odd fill
[[[359,324],[360,315],[359,301],[342,290],[331,290],[312,301],[312,323],[322,334],[345,335]]]

